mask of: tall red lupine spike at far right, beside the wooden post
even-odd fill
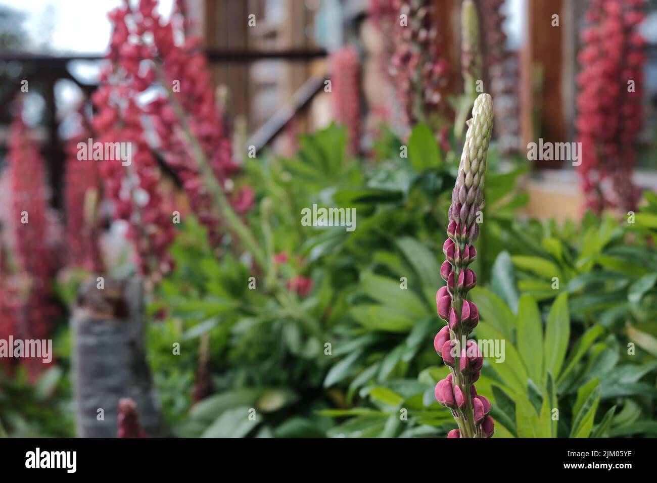
[[[587,208],[635,208],[631,181],[635,142],[643,126],[645,39],[637,32],[643,0],[593,0],[582,33],[578,75],[581,186]]]

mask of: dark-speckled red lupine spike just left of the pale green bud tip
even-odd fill
[[[432,0],[397,0],[399,24],[392,74],[397,80],[409,126],[440,110],[439,89],[445,83],[447,61],[436,40]],[[405,15],[405,17],[401,17]],[[407,19],[407,25],[402,25]]]

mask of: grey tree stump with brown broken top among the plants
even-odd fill
[[[102,289],[94,279],[79,291],[71,325],[82,438],[116,438],[120,398],[137,403],[139,421],[149,436],[163,435],[162,410],[145,357],[143,296],[137,277],[105,279]]]

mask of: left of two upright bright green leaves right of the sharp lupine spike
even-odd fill
[[[523,295],[518,303],[518,353],[530,377],[543,380],[543,324],[536,301]]]

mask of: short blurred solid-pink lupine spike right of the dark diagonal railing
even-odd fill
[[[350,154],[357,154],[361,142],[358,53],[351,46],[343,47],[332,53],[329,63],[334,116],[347,127]]]

